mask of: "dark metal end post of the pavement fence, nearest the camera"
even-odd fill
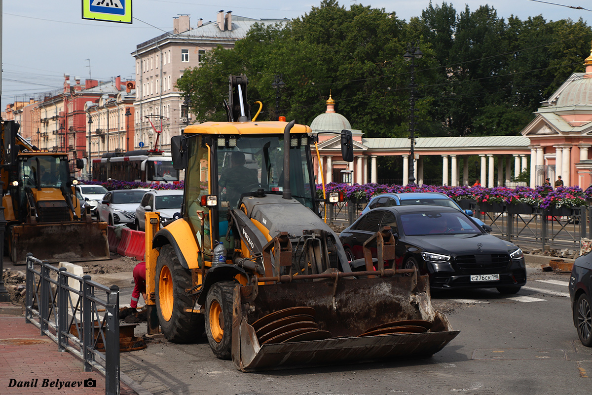
[[[107,343],[105,343],[105,394],[119,394],[119,287],[111,285],[107,297]]]

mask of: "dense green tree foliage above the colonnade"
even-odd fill
[[[583,71],[591,39],[581,19],[506,21],[487,5],[457,12],[430,3],[406,22],[384,9],[323,0],[284,26],[255,24],[176,85],[200,121],[226,120],[228,77],[244,73],[249,103],[263,102],[259,119],[285,115],[310,124],[332,94],[337,111],[366,137],[406,137],[411,70],[403,54],[416,42],[424,53],[415,68],[417,136],[509,135]],[[279,92],[271,86],[276,75],[286,84]]]

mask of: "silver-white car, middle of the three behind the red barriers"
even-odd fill
[[[115,190],[107,192],[96,206],[99,220],[110,225],[127,224],[134,229],[136,207],[140,205],[146,189]]]

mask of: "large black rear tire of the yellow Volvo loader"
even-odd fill
[[[172,277],[172,313],[168,320],[165,319],[161,307],[160,274],[163,268],[168,268]],[[189,343],[194,342],[204,332],[204,314],[190,313],[186,309],[194,307],[194,298],[186,293],[192,287],[191,271],[185,269],[179,263],[179,258],[172,246],[165,245],[160,249],[160,255],[156,259],[156,314],[162,332],[169,342]],[[162,302],[165,303],[165,302]]]

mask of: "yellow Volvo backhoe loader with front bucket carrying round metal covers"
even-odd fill
[[[432,308],[427,278],[385,265],[396,243],[388,228],[362,265],[348,262],[319,215],[317,136],[294,121],[250,120],[246,85],[230,76],[229,121],[172,138],[184,205],[165,224],[146,213],[149,333],[184,343],[205,329],[214,355],[242,371],[440,351],[458,331]],[[351,131],[336,134],[351,162]]]

